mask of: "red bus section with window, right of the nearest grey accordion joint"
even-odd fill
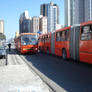
[[[80,60],[92,64],[92,25],[81,27]]]

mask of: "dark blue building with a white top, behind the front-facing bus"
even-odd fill
[[[28,11],[25,11],[20,15],[19,29],[19,33],[30,33],[32,31],[31,18],[29,17]]]

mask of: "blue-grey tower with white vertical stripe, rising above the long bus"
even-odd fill
[[[65,0],[65,25],[70,26],[85,21],[85,0]]]

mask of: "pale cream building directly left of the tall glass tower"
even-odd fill
[[[42,34],[47,33],[47,17],[46,16],[40,17],[39,30]]]

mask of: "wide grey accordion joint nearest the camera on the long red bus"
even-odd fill
[[[79,61],[80,26],[74,26],[70,31],[70,58]]]

